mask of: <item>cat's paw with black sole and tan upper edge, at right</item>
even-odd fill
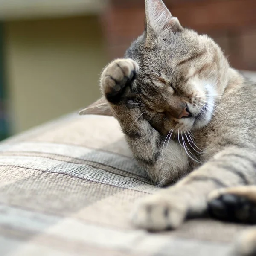
[[[256,223],[256,189],[238,187],[212,192],[208,200],[213,218],[240,223]]]

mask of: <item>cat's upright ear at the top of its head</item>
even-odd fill
[[[183,27],[162,0],[145,0],[145,30],[147,35],[154,33],[165,37],[172,32],[181,32]]]

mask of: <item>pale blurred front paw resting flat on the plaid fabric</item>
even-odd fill
[[[157,231],[175,229],[186,218],[186,206],[168,195],[152,195],[141,201],[133,215],[135,227]]]

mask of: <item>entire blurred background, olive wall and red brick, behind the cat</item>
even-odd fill
[[[255,0],[165,0],[256,70]],[[144,0],[0,0],[0,140],[99,98],[99,75],[143,31]]]

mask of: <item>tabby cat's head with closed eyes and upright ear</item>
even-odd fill
[[[145,31],[125,57],[139,64],[132,88],[143,116],[160,133],[209,123],[229,68],[211,38],[183,28],[162,0],[145,0]]]

